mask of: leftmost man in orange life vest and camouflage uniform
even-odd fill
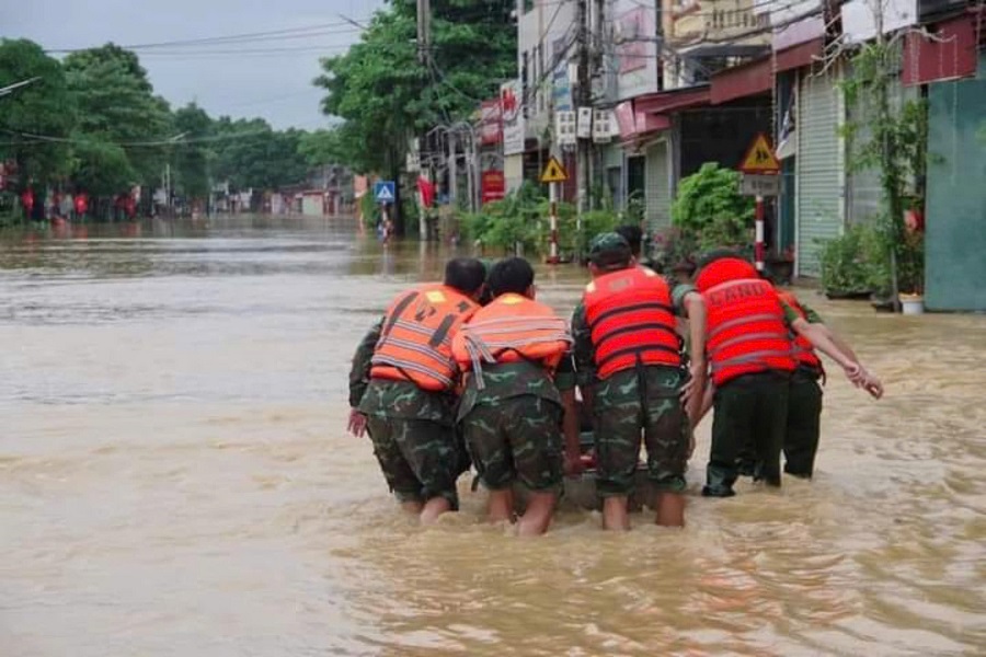
[[[458,509],[463,472],[455,431],[451,357],[456,332],[479,309],[485,270],[473,258],[445,267],[390,304],[356,350],[349,371],[349,430],[368,431],[390,489],[422,523]]]

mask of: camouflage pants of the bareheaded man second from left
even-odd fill
[[[479,405],[462,418],[462,429],[479,479],[490,491],[507,488],[515,480],[537,492],[561,488],[558,404],[525,394],[503,404]]]

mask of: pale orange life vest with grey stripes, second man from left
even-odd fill
[[[481,308],[456,334],[452,357],[462,371],[474,371],[482,390],[482,364],[527,360],[554,372],[572,338],[565,321],[544,303],[520,295],[501,295]]]

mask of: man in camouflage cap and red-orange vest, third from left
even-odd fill
[[[658,491],[656,522],[681,527],[691,446],[679,399],[687,371],[670,292],[661,276],[633,265],[630,245],[617,233],[593,241],[589,269],[593,281],[572,316],[572,334],[578,384],[593,410],[603,527],[630,528],[627,504],[641,434],[649,475]],[[703,323],[697,326],[701,331]],[[703,362],[703,339],[699,335],[692,344],[695,364]],[[703,368],[697,371],[701,379]],[[696,385],[701,390],[702,381]]]

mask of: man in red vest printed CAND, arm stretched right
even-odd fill
[[[696,278],[708,310],[708,358],[714,393],[712,448],[702,495],[731,497],[740,451],[753,446],[755,481],[779,487],[796,333],[838,362],[857,385],[873,379],[817,327],[787,314],[773,287],[732,254],[709,257]],[[789,309],[788,309],[789,310]],[[701,416],[701,414],[699,415]]]

